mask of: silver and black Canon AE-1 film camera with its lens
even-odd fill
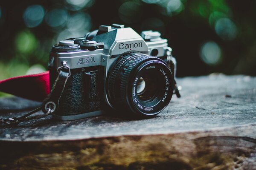
[[[143,118],[160,113],[174,92],[179,96],[172,48],[160,36],[113,24],[53,45],[50,87],[63,62],[71,73],[55,117],[74,120],[111,110]]]

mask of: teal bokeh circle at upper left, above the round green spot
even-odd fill
[[[42,23],[44,19],[44,8],[41,5],[32,5],[23,13],[23,20],[27,27],[33,28]]]

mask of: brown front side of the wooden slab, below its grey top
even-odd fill
[[[237,127],[247,131],[256,125]],[[255,129],[255,128],[254,128]],[[1,169],[254,170],[256,140],[224,130],[71,141],[1,141]],[[242,134],[240,134],[242,135]]]

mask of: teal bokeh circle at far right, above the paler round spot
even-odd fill
[[[237,36],[236,24],[229,18],[221,18],[217,20],[215,31],[223,40],[234,40]]]

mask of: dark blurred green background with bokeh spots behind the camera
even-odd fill
[[[99,25],[160,31],[177,76],[256,76],[255,0],[20,0],[0,2],[0,79],[47,70],[51,46]]]

